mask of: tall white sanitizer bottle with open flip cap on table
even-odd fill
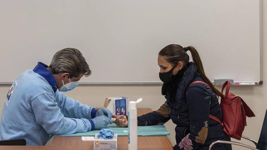
[[[139,98],[136,102],[130,101],[128,106],[128,149],[137,150],[137,108],[136,104],[143,99]]]

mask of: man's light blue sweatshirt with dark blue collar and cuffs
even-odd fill
[[[45,145],[49,135],[94,129],[91,118],[97,109],[59,92],[47,67],[38,62],[12,84],[5,98],[0,140],[25,138],[26,145]]]

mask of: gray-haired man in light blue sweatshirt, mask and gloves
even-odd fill
[[[23,72],[5,98],[0,140],[24,138],[26,145],[45,145],[49,135],[88,132],[112,124],[112,113],[106,108],[95,109],[61,93],[89,75],[89,65],[75,48],[56,52],[49,66],[38,62]]]

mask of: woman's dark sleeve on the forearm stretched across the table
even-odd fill
[[[170,119],[170,107],[165,102],[158,110],[137,117],[137,125],[162,125]]]

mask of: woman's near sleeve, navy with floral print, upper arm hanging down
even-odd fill
[[[190,117],[190,132],[184,137],[178,149],[192,150],[202,146],[208,135],[208,120],[211,95],[199,87],[188,89],[187,105]]]

